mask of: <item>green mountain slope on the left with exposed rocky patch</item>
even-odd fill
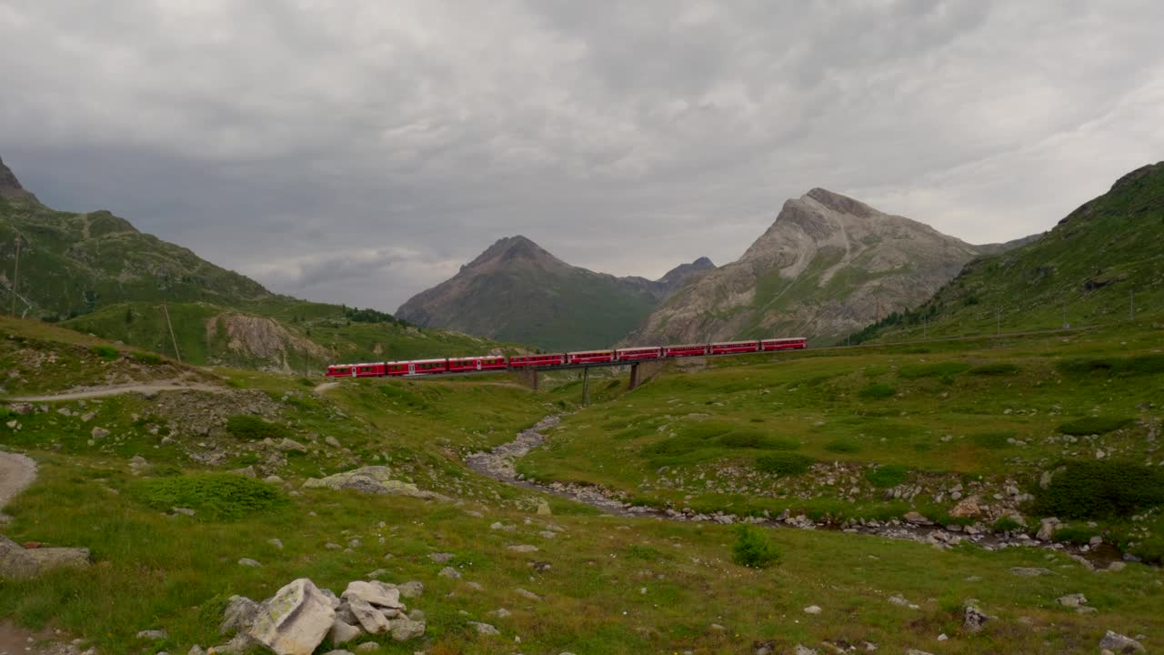
[[[272,294],[108,211],[49,209],[0,163],[0,309],[13,307],[20,316],[62,322],[192,364],[318,371],[335,360],[478,354],[502,347],[466,334],[421,331],[383,312]]]

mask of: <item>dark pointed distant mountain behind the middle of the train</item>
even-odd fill
[[[711,268],[700,258],[656,281],[615,277],[570,266],[525,237],[508,237],[452,279],[410,298],[396,316],[547,350],[606,347],[660,300]]]

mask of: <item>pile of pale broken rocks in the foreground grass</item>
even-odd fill
[[[223,634],[235,632],[236,636],[210,653],[247,653],[262,645],[277,655],[311,655],[325,639],[339,647],[365,634],[409,641],[425,634],[425,617],[419,610],[407,612],[400,599],[421,593],[419,582],[355,580],[336,597],[299,578],[262,603],[234,596],[220,627]]]

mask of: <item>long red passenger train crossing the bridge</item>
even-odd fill
[[[752,341],[722,341],[716,344],[686,344],[679,346],[648,346],[612,348],[604,351],[577,351],[553,354],[452,357],[446,359],[418,359],[413,361],[379,361],[372,364],[335,364],[327,367],[328,378],[381,378],[384,375],[439,375],[441,373],[474,373],[477,371],[509,371],[523,368],[552,368],[555,366],[579,366],[587,364],[619,364],[673,359],[679,357],[707,357],[715,354],[746,354],[801,350],[807,347],[803,337],[783,339],[757,339]]]

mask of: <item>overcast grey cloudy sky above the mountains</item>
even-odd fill
[[[972,242],[1164,159],[1164,2],[0,0],[57,209],[396,307],[496,239],[655,277],[812,186]]]

